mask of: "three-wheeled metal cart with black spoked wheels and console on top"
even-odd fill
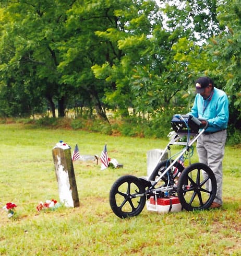
[[[216,179],[213,171],[204,164],[191,164],[193,144],[207,129],[192,115],[173,116],[170,142],[163,150],[155,168],[148,177],[122,176],[115,181],[110,191],[110,205],[114,214],[120,218],[134,217],[141,213],[144,205],[158,200],[178,197],[187,211],[206,210],[216,195]],[[171,155],[171,146],[180,145],[183,149]],[[168,152],[168,159],[162,161]],[[180,158],[189,158],[189,166],[184,168]]]

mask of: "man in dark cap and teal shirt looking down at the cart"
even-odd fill
[[[226,142],[228,122],[228,99],[224,91],[215,88],[212,79],[200,77],[195,82],[197,95],[194,106],[188,114],[208,121],[206,131],[198,138],[199,161],[209,166],[215,174],[217,192],[210,208],[221,207],[222,201],[222,161]],[[206,124],[202,121],[203,125]]]

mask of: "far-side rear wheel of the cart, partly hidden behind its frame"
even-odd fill
[[[150,175],[150,180],[156,180],[158,177],[161,176],[161,174],[166,170],[166,168],[171,164],[170,160],[165,160],[162,162],[159,162],[159,164],[155,167],[154,171]],[[174,183],[177,183],[178,177],[180,176],[180,173],[184,170],[184,167],[179,163],[175,162],[173,167],[168,171],[167,174],[165,174],[162,177],[162,181],[164,181],[164,185],[169,184],[173,185]]]

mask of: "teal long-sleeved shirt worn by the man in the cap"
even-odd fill
[[[200,94],[197,94],[194,106],[188,114],[196,118],[208,120],[207,132],[216,132],[227,128],[228,122],[228,99],[224,91],[215,88],[213,95],[204,100]]]

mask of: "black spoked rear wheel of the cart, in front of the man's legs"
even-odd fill
[[[184,169],[177,184],[180,203],[187,211],[206,210],[216,195],[216,179],[212,170],[197,162]]]

